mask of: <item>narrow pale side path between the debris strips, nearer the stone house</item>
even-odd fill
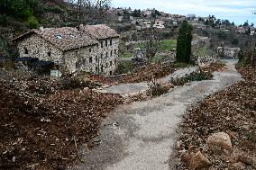
[[[171,78],[185,76],[186,74],[190,74],[193,71],[196,71],[197,67],[186,67],[186,68],[180,68],[177,71],[175,71],[173,74],[169,76],[162,77],[158,79],[160,83],[168,82]],[[146,82],[142,83],[135,83],[135,84],[120,84],[120,85],[112,85],[108,88],[105,88],[104,90],[109,93],[113,94],[133,94],[138,93],[142,90],[147,90],[148,84]]]

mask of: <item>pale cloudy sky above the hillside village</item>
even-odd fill
[[[113,0],[114,7],[131,7],[132,9],[156,8],[173,14],[194,13],[197,16],[214,14],[216,18],[228,19],[235,24],[245,21],[256,25],[256,0]]]

